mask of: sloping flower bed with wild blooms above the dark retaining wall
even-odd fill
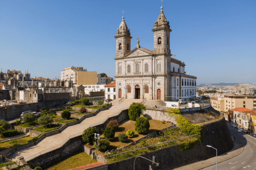
[[[184,141],[190,141],[190,140],[196,139],[195,137],[187,137],[184,139],[178,139],[178,138],[182,138],[185,136],[189,136],[189,135],[187,133],[181,132],[180,128],[178,128],[176,126],[170,126],[168,129],[166,129],[162,132],[159,132],[154,137],[141,139],[138,143],[136,143],[133,146],[128,146],[125,149],[121,149],[121,150],[117,149],[115,151],[114,150],[112,150],[110,152],[107,151],[107,152],[105,152],[105,156],[109,159],[109,163],[111,163],[111,162],[116,162],[119,160],[127,159],[130,157],[136,156],[136,155],[140,155],[143,153],[148,153],[148,152],[152,152],[152,151],[159,150],[162,148],[178,145]],[[178,139],[178,140],[151,146],[151,145],[154,145],[157,143],[161,143],[161,142],[165,142],[165,141],[169,141],[169,140],[173,140],[173,139]],[[139,149],[139,148],[142,148],[142,149]],[[119,154],[122,152],[126,152],[126,153]],[[115,155],[115,154],[119,154],[119,155]],[[110,157],[108,157],[108,156],[110,156]]]

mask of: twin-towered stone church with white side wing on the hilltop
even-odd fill
[[[154,24],[153,51],[137,46],[131,50],[131,34],[124,16],[116,32],[116,96],[125,99],[164,100],[196,96],[196,77],[184,72],[185,64],[172,57],[169,21],[163,14]]]

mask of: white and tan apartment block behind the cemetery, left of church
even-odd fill
[[[71,80],[73,84],[97,84],[97,71],[87,71],[83,67],[67,67],[60,72],[60,81]]]

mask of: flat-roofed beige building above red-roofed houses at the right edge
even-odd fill
[[[256,96],[224,95],[224,112],[238,107],[256,110]]]

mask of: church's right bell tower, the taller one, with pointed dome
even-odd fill
[[[168,53],[171,55],[170,50],[170,29],[169,21],[167,21],[163,14],[163,7],[161,6],[160,15],[155,21],[154,29],[154,50],[153,53]]]

